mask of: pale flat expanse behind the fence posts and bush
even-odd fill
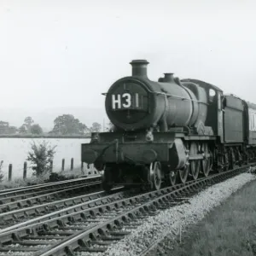
[[[70,169],[71,158],[73,167],[81,166],[81,144],[89,143],[87,138],[0,138],[0,161],[3,160],[3,173],[8,177],[9,164],[13,165],[13,177],[23,177],[23,165],[28,152],[31,150],[31,143],[49,142],[55,148],[53,171],[61,171],[61,160],[65,159],[65,170]],[[27,162],[27,166],[31,166]],[[32,170],[27,169],[27,177],[32,175]]]

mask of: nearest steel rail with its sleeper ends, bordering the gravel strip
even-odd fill
[[[134,225],[137,223],[137,219],[148,218],[150,215],[155,215],[158,209],[176,206],[183,201],[187,201],[188,197],[198,193],[199,189],[204,189],[206,186],[211,186],[212,183],[218,183],[224,178],[234,176],[237,172],[239,172],[238,169],[235,172],[233,170],[232,172],[220,173],[213,177],[196,181],[195,183],[174,190],[166,195],[157,196],[150,201],[143,202],[143,204],[138,204],[136,207],[130,209],[127,207],[126,211],[120,212],[120,214],[104,221],[102,224],[97,224],[91,227],[90,230],[77,230],[73,235],[38,250],[34,255],[54,256],[66,254],[76,255],[76,252],[105,252],[108,249],[108,245],[113,243],[113,241],[119,241],[131,233],[131,230],[127,229],[130,223]],[[137,225],[139,225],[139,222]],[[98,247],[99,245],[102,247]]]

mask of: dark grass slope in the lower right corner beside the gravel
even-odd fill
[[[155,248],[154,255],[255,256],[256,182],[248,183],[201,223]],[[150,253],[150,255],[153,255]]]

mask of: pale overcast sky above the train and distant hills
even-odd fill
[[[0,108],[104,108],[147,59],[148,77],[202,79],[256,103],[256,3],[0,0]]]

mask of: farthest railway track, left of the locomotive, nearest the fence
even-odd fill
[[[37,195],[44,195],[45,193],[60,191],[60,189],[63,190],[83,186],[84,184],[90,182],[98,182],[100,184],[101,176],[78,178],[57,183],[46,183],[32,187],[4,190],[0,193],[0,205],[12,201],[20,201]]]

